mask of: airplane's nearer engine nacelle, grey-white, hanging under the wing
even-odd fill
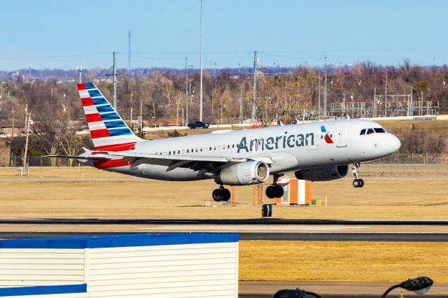
[[[267,164],[260,161],[241,162],[226,166],[219,171],[214,179],[221,185],[250,185],[263,183],[269,178]]]

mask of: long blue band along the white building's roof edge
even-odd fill
[[[147,233],[0,240],[0,248],[116,248],[237,242],[235,233]]]

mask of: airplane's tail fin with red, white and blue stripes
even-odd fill
[[[135,143],[143,141],[132,133],[94,83],[78,84],[78,90],[95,150],[134,150]]]

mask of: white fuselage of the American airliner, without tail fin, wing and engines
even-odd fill
[[[135,145],[133,152],[173,157],[269,159],[269,173],[283,173],[367,162],[391,155],[400,148],[400,140],[388,132],[360,134],[362,129],[367,132],[374,128],[382,127],[369,120],[331,120],[142,141]],[[200,180],[214,176],[209,172],[198,175],[193,169],[181,167],[167,171],[167,166],[153,164],[102,169],[158,180]]]

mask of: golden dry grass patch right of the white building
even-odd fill
[[[240,241],[239,279],[447,283],[447,251],[448,243]]]

